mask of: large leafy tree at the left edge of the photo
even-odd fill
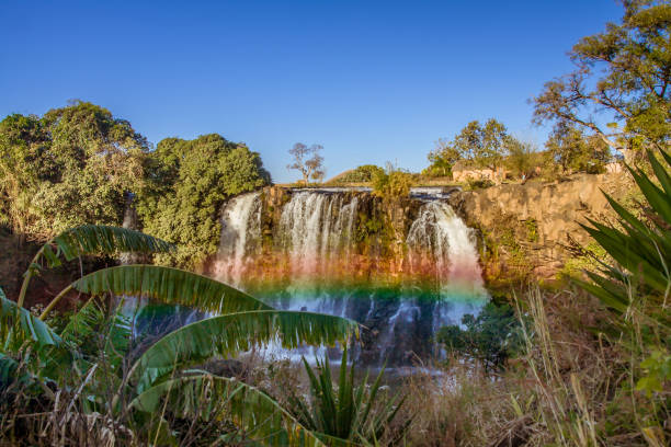
[[[147,140],[106,108],[76,101],[42,118],[0,123],[0,196],[18,233],[48,239],[66,228],[121,224],[143,183]]]

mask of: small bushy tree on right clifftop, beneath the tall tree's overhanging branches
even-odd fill
[[[550,156],[548,161],[560,167],[565,174],[598,174],[604,172],[611,159],[609,146],[601,138],[585,136],[582,130],[566,123],[555,126],[545,147]]]

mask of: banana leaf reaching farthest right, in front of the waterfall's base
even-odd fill
[[[255,310],[213,317],[182,326],[151,345],[133,367],[146,388],[174,368],[197,365],[215,355],[229,357],[277,341],[286,348],[333,345],[359,335],[355,321],[323,313]]]

